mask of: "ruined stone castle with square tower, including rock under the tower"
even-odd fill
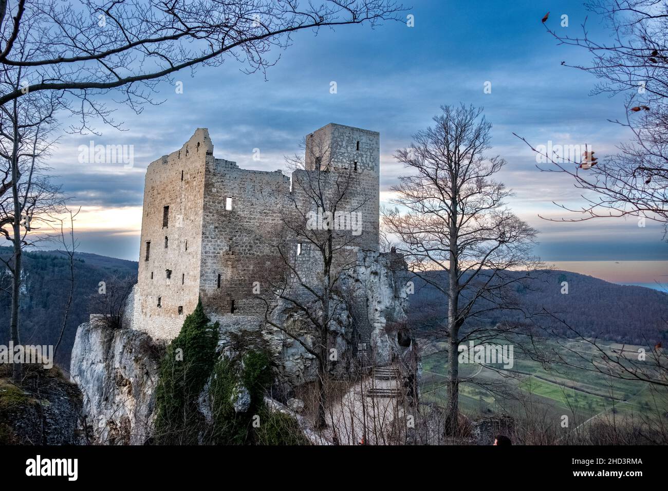
[[[347,223],[342,249],[354,264],[339,282],[346,293],[333,327],[331,342],[341,357],[335,369],[345,371],[361,353],[389,363],[398,351],[389,325],[405,320],[405,263],[400,255],[379,251],[379,167],[379,134],[369,130],[340,124],[316,130],[305,138],[303,168],[286,176],[215,158],[208,130],[199,128],[146,171],[131,327],[154,339],[174,339],[201,299],[208,317],[220,323],[223,347],[232,335],[257,338],[281,360],[289,385],[309,379],[311,355],[265,323],[266,305],[257,293],[267,288],[263,279],[276,269],[279,255],[286,255],[279,254],[279,244],[289,245],[295,272],[317,275],[308,244],[286,236],[285,216],[303,200],[295,182],[318,169],[345,170],[350,178],[341,208],[354,215],[343,216],[353,222]],[[276,305],[279,322],[296,322],[299,313],[278,299]],[[309,337],[306,327],[302,332]]]

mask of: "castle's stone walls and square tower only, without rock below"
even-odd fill
[[[295,171],[292,179],[303,178],[299,173],[315,168],[316,160],[353,176],[349,198],[341,206],[361,216],[355,247],[377,251],[379,133],[340,124],[315,130],[306,137],[307,170]],[[172,339],[199,298],[214,320],[257,315],[253,283],[276,260],[283,217],[295,199],[291,177],[281,170],[248,170],[215,158],[206,128],[151,162],[144,188],[135,329]]]

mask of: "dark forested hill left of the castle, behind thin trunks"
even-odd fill
[[[0,255],[11,257],[11,248],[0,247]],[[74,295],[63,341],[56,356],[59,365],[69,369],[77,326],[88,321],[90,297],[98,293],[98,283],[110,281],[113,277],[136,281],[137,264],[113,257],[76,253]],[[59,251],[24,252],[23,268],[19,319],[21,343],[55,345],[69,295],[69,260]],[[9,341],[11,305],[11,278],[7,271],[0,272],[0,287],[0,343],[6,344]]]

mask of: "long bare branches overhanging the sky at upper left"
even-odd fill
[[[90,117],[114,124],[102,96],[120,90],[136,111],[150,102],[161,79],[197,65],[226,60],[244,71],[277,62],[293,33],[397,19],[392,0],[0,0],[0,65],[23,67],[25,85],[0,94],[0,106],[27,93],[66,94],[79,116],[72,130],[90,129]],[[17,39],[29,41],[27,58]]]

